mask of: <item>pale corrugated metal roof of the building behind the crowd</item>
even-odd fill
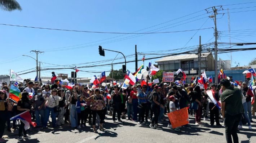
[[[209,54],[212,54],[211,52],[209,53],[202,53],[202,58],[203,57],[207,57]],[[177,55],[177,56],[169,56],[169,57],[164,57],[159,59],[158,61],[155,62],[163,62],[163,61],[173,61],[173,60],[183,60],[183,59],[194,59],[194,58],[198,58],[197,54],[181,54],[181,55]]]

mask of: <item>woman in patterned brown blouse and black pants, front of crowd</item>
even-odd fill
[[[100,116],[100,130],[105,130],[102,127],[102,123],[104,120],[104,108],[106,108],[105,101],[104,101],[104,96],[100,94],[99,89],[95,89],[95,94],[92,95],[91,97],[85,99],[86,101],[91,101],[91,110],[92,110],[92,126],[93,126],[93,132],[98,133],[96,130],[96,116],[97,114]]]

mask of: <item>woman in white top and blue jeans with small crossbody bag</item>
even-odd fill
[[[52,118],[52,127],[56,127],[56,107],[59,105],[59,101],[63,99],[64,94],[58,96],[57,90],[53,89],[50,96],[45,95],[44,99],[46,101],[46,108],[44,112],[44,124],[43,128],[46,128],[49,116],[51,114]]]

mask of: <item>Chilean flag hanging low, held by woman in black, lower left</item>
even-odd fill
[[[31,115],[28,111],[25,111],[21,114],[18,114],[16,116],[13,116],[12,118],[10,118],[10,120],[15,120],[15,119],[16,120],[19,119],[25,124],[25,126],[24,126],[25,130],[29,129],[29,127],[30,127],[29,124],[31,124],[33,127],[36,127],[36,123],[31,121]]]

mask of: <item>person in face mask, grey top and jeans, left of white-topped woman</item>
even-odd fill
[[[37,95],[33,97],[33,107],[35,109],[36,127],[39,128],[44,122],[45,100],[41,89],[37,89]]]

